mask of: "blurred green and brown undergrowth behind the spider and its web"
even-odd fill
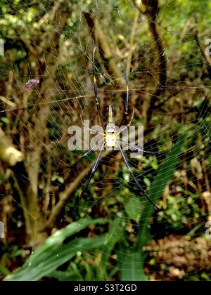
[[[1,280],[210,280],[211,3],[0,0]],[[124,65],[144,147],[67,171],[68,128],[124,114]],[[30,91],[25,83],[39,79]],[[162,154],[169,150],[170,152]],[[207,225],[207,227],[206,227]]]

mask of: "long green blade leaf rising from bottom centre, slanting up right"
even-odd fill
[[[165,162],[160,166],[158,174],[155,177],[151,190],[148,192],[148,197],[153,199],[153,202],[157,202],[165,186],[170,182],[174,176],[174,171],[179,162],[179,156],[181,155],[181,147],[184,144],[185,136],[177,141],[176,145],[168,153]],[[138,208],[139,204],[130,202],[127,204],[125,210],[130,218],[140,218]],[[140,206],[139,206],[140,207]],[[134,247],[134,251],[128,251],[127,248],[120,246],[120,252],[118,254],[120,277],[121,280],[130,281],[144,281],[147,277],[144,273],[144,261],[146,254],[143,252],[143,246],[145,246],[151,239],[148,232],[149,218],[153,215],[154,207],[151,204],[146,203],[141,213],[141,223],[139,224],[139,234],[137,235],[137,242]],[[135,219],[134,219],[135,220]]]

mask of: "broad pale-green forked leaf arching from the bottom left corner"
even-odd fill
[[[72,223],[62,230],[58,230],[53,236],[49,237],[43,246],[34,252],[27,259],[18,273],[8,275],[7,281],[37,281],[42,277],[49,275],[60,265],[69,261],[77,254],[77,251],[96,249],[103,247],[106,241],[106,235],[94,238],[78,238],[68,244],[62,244],[65,238],[75,235],[88,225],[104,224],[108,221],[102,218],[91,220],[87,219],[77,223]]]

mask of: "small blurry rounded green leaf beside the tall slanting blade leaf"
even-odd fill
[[[136,223],[139,222],[142,210],[142,204],[139,197],[131,197],[124,205],[124,209],[130,219],[136,221]]]

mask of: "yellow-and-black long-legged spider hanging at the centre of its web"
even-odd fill
[[[132,112],[132,116],[131,119],[129,121],[129,124],[127,124],[127,126],[124,126],[122,131],[117,131],[116,126],[115,126],[115,119],[114,119],[114,111],[113,111],[113,106],[109,105],[108,106],[108,122],[105,126],[104,122],[103,122],[103,114],[101,112],[101,106],[98,102],[98,89],[97,89],[97,80],[96,80],[96,66],[95,66],[95,52],[96,52],[96,48],[94,48],[94,52],[93,52],[93,58],[92,58],[92,70],[93,70],[93,86],[94,86],[94,98],[95,98],[95,102],[96,102],[96,108],[98,111],[98,116],[100,117],[101,120],[101,125],[103,127],[104,130],[104,134],[103,134],[103,140],[100,140],[97,145],[95,145],[94,147],[92,147],[89,151],[85,152],[84,155],[82,155],[81,157],[79,157],[79,159],[77,160],[77,162],[75,162],[75,164],[69,166],[68,171],[70,171],[71,169],[75,168],[77,166],[77,164],[79,164],[79,162],[82,161],[82,159],[84,159],[84,157],[87,157],[89,154],[91,154],[92,151],[95,150],[95,148],[99,145],[100,146],[100,152],[98,153],[98,156],[96,157],[96,160],[91,168],[91,172],[89,174],[89,178],[87,180],[87,183],[84,185],[84,189],[82,190],[82,194],[80,197],[83,197],[85,195],[85,193],[87,192],[87,188],[89,187],[89,183],[91,181],[91,178],[94,176],[94,173],[98,167],[98,163],[100,162],[101,159],[101,155],[102,152],[104,150],[104,147],[109,147],[109,148],[114,148],[117,147],[117,149],[120,151],[121,155],[122,155],[122,159],[124,161],[125,166],[127,167],[130,175],[132,176],[132,178],[134,179],[134,182],[136,183],[137,187],[139,188],[141,195],[143,197],[146,197],[146,199],[148,199],[148,202],[150,202],[155,209],[160,210],[160,208],[158,208],[158,206],[155,205],[155,203],[148,197],[148,195],[146,195],[145,191],[143,190],[143,188],[141,187],[141,185],[139,184],[139,182],[137,181],[136,177],[134,176],[134,173],[132,171],[132,167],[129,165],[129,163],[127,162],[126,157],[124,156],[124,152],[122,150],[122,147],[120,146],[120,141],[122,143],[125,143],[127,145],[129,145],[129,147],[132,147],[135,150],[139,150],[141,152],[145,152],[146,154],[149,155],[161,155],[160,152],[149,152],[149,151],[145,151],[143,150],[141,147],[136,147],[135,145],[132,145],[130,143],[127,143],[126,141],[119,140],[118,139],[118,135],[120,133],[122,133],[124,131],[124,129],[127,129],[127,127],[132,123],[132,119],[134,118],[134,110]],[[123,67],[124,70],[124,67]],[[127,74],[124,70],[124,79],[125,79],[125,84],[126,84],[126,98],[125,98],[125,109],[124,109],[124,114],[122,117],[122,121],[120,123],[120,126],[122,126],[127,118],[127,116],[129,115],[129,81],[127,79]],[[119,126],[119,127],[120,127]]]

